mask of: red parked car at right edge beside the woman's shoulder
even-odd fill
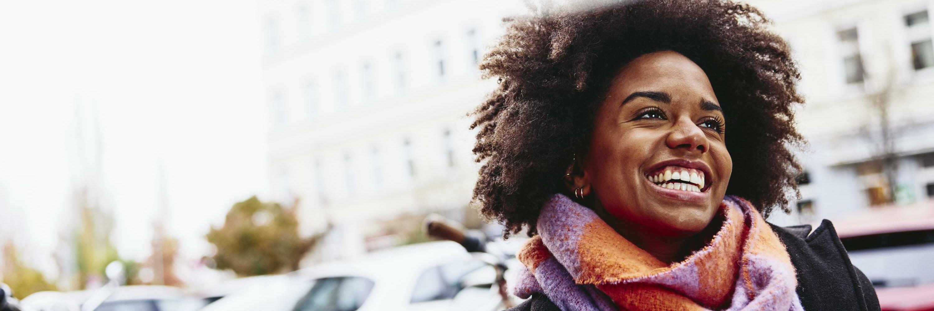
[[[934,201],[877,207],[835,224],[884,311],[934,311]]]

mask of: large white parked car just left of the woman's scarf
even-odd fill
[[[375,251],[265,279],[204,311],[497,310],[496,269],[457,243]]]

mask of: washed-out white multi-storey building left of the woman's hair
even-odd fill
[[[303,233],[373,248],[403,239],[398,219],[466,214],[467,114],[495,83],[476,63],[521,2],[259,3],[273,189],[298,200]]]

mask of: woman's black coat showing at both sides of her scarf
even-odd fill
[[[771,224],[770,224],[771,225]],[[879,310],[872,283],[850,263],[830,220],[811,233],[811,225],[771,225],[785,244],[798,273],[798,297],[805,311]],[[811,233],[811,234],[808,234]],[[509,311],[559,311],[545,295],[536,293]]]

